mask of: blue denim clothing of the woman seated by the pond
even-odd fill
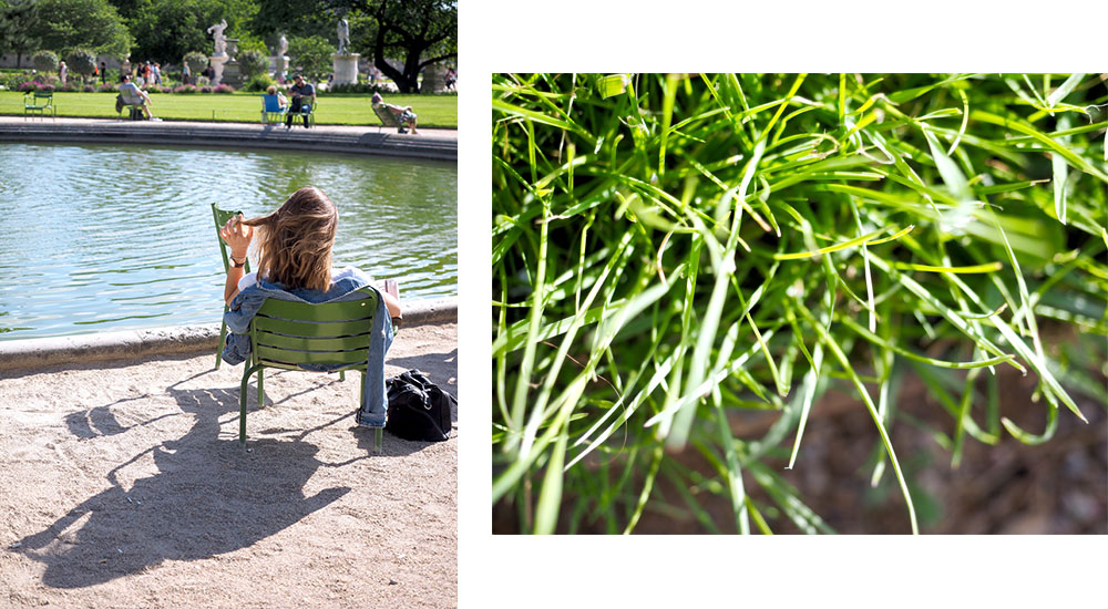
[[[384,389],[384,354],[392,345],[392,318],[384,306],[384,298],[372,286],[372,279],[356,268],[347,268],[337,273],[331,282],[331,289],[321,292],[307,288],[286,290],[280,283],[259,280],[247,286],[230,301],[230,307],[223,316],[227,328],[233,332],[227,336],[227,347],[223,350],[223,361],[239,364],[250,357],[250,320],[261,308],[267,298],[291,300],[295,302],[343,302],[361,300],[365,296],[357,290],[369,287],[378,293],[377,311],[373,317],[373,339],[369,343],[369,367],[366,372],[366,391],[361,396],[361,407],[358,410],[359,425],[370,427],[384,426],[384,415],[388,406]],[[334,364],[300,364],[300,368],[311,372],[328,372],[339,368]]]

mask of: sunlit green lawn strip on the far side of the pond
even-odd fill
[[[261,101],[255,93],[153,93],[151,100],[154,115],[164,120],[257,123],[261,118]],[[320,97],[316,121],[321,125],[378,125],[369,100],[369,95]],[[455,95],[389,95],[387,101],[416,109],[420,127],[458,128]],[[111,93],[54,93],[54,105],[59,116],[119,117]],[[23,94],[0,91],[0,114],[22,115]]]

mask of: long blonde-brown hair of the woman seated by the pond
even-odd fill
[[[331,287],[331,246],[339,215],[327,194],[314,186],[293,193],[276,211],[244,220],[258,228],[258,278],[287,289],[326,292]]]

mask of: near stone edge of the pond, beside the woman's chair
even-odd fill
[[[450,322],[458,322],[456,298],[406,303],[404,328]],[[214,355],[218,342],[218,323],[0,341],[0,372],[204,350],[211,350]]]

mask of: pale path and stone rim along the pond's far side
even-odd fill
[[[187,144],[458,159],[456,130],[423,128],[419,135],[411,135],[368,125],[286,130],[283,125],[260,123],[0,116],[0,142]]]

